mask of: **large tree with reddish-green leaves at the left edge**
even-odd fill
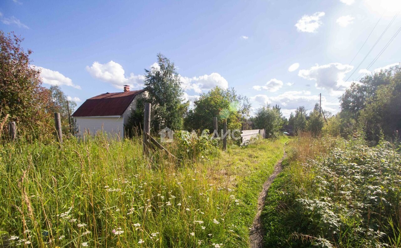
[[[31,50],[23,39],[0,31],[0,117],[16,121],[18,135],[27,139],[53,139],[51,94],[42,87],[40,71],[30,65]]]

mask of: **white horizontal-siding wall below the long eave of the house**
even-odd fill
[[[97,131],[103,130],[107,134],[124,137],[123,117],[74,117],[79,133],[82,136],[85,131],[95,135]]]

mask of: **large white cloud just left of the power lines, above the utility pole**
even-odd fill
[[[351,65],[342,65],[341,63],[331,63],[328,65],[316,65],[308,70],[300,70],[299,77],[307,80],[316,81],[316,88],[327,89],[331,93],[334,91],[344,91],[349,87],[351,82],[344,82],[345,74],[352,71],[354,67]]]

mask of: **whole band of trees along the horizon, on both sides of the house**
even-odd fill
[[[21,41],[13,33],[0,31],[0,123],[16,121],[20,136],[30,140],[51,140],[55,131],[53,113],[59,112],[63,132],[69,133],[66,95],[59,86],[50,89],[42,86],[40,70],[30,65],[32,51],[25,52],[20,46]],[[315,137],[322,134],[348,137],[362,132],[373,143],[380,137],[398,139],[401,129],[399,67],[367,75],[353,83],[340,97],[339,113],[331,116],[330,112],[323,112],[327,117],[325,124],[318,104],[309,113],[304,106],[298,107],[289,119],[283,116],[278,105],[263,105],[250,117],[248,97],[238,94],[234,88],[215,87],[201,93],[190,107],[190,102],[183,99],[181,77],[174,63],[162,54],[157,54],[157,60],[157,67],[145,69],[144,89],[147,93],[137,101],[137,108],[131,113],[126,127],[128,131],[140,131],[143,127],[144,103],[149,102],[152,103],[152,131],[164,127],[213,131],[213,117],[217,117],[218,129],[223,128],[224,121],[231,130],[241,129],[247,122],[252,128],[265,129],[268,138],[289,131],[294,134],[308,132]],[[70,113],[75,107],[76,103],[70,101]],[[0,134],[5,131],[6,128],[0,125]]]

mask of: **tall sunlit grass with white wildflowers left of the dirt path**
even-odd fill
[[[61,148],[2,144],[0,246],[247,246],[258,192],[284,140],[181,161],[145,157],[141,142],[99,135]]]

